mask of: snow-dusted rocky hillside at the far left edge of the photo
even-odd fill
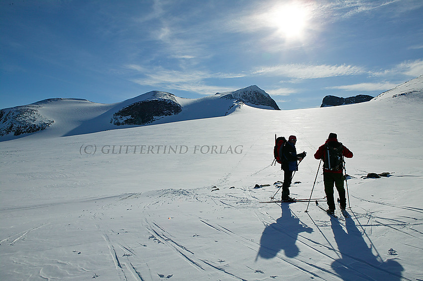
[[[0,110],[0,137],[19,136],[47,129],[54,121],[42,116],[39,106],[26,105]]]

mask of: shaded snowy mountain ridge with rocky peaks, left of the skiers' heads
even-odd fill
[[[199,99],[179,98],[161,91],[151,91],[115,104],[55,98],[2,109],[0,141],[34,133],[38,139],[62,137],[226,116],[243,104],[279,110],[276,102],[255,85]]]

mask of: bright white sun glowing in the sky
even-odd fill
[[[286,39],[302,39],[309,26],[310,10],[301,2],[280,4],[268,14],[269,23]]]

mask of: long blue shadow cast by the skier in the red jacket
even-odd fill
[[[345,229],[336,218],[331,218],[331,228],[341,254],[331,267],[344,281],[402,280],[403,267],[394,259],[383,261],[364,241],[364,237],[351,217],[345,220]]]

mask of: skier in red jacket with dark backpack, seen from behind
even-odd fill
[[[328,149],[334,148],[339,150],[339,157],[335,161],[329,161],[328,159]],[[334,153],[333,153],[334,154]],[[342,157],[341,157],[342,156]],[[346,198],[345,198],[345,189],[344,189],[344,180],[345,177],[343,175],[343,169],[344,169],[344,162],[343,162],[343,156],[347,158],[352,158],[353,154],[351,151],[349,151],[348,148],[346,148],[342,143],[340,143],[337,140],[337,135],[335,133],[330,133],[329,138],[326,140],[326,142],[321,145],[316,153],[315,158],[316,159],[322,159],[323,160],[323,182],[324,182],[324,193],[327,197],[327,206],[329,209],[327,212],[334,213],[335,211],[335,200],[333,198],[333,184],[335,184],[335,187],[339,194],[339,206],[341,207],[341,210],[345,210],[346,207]],[[332,158],[333,159],[333,158]],[[331,167],[332,162],[332,167]],[[335,162],[336,164],[333,164]]]

